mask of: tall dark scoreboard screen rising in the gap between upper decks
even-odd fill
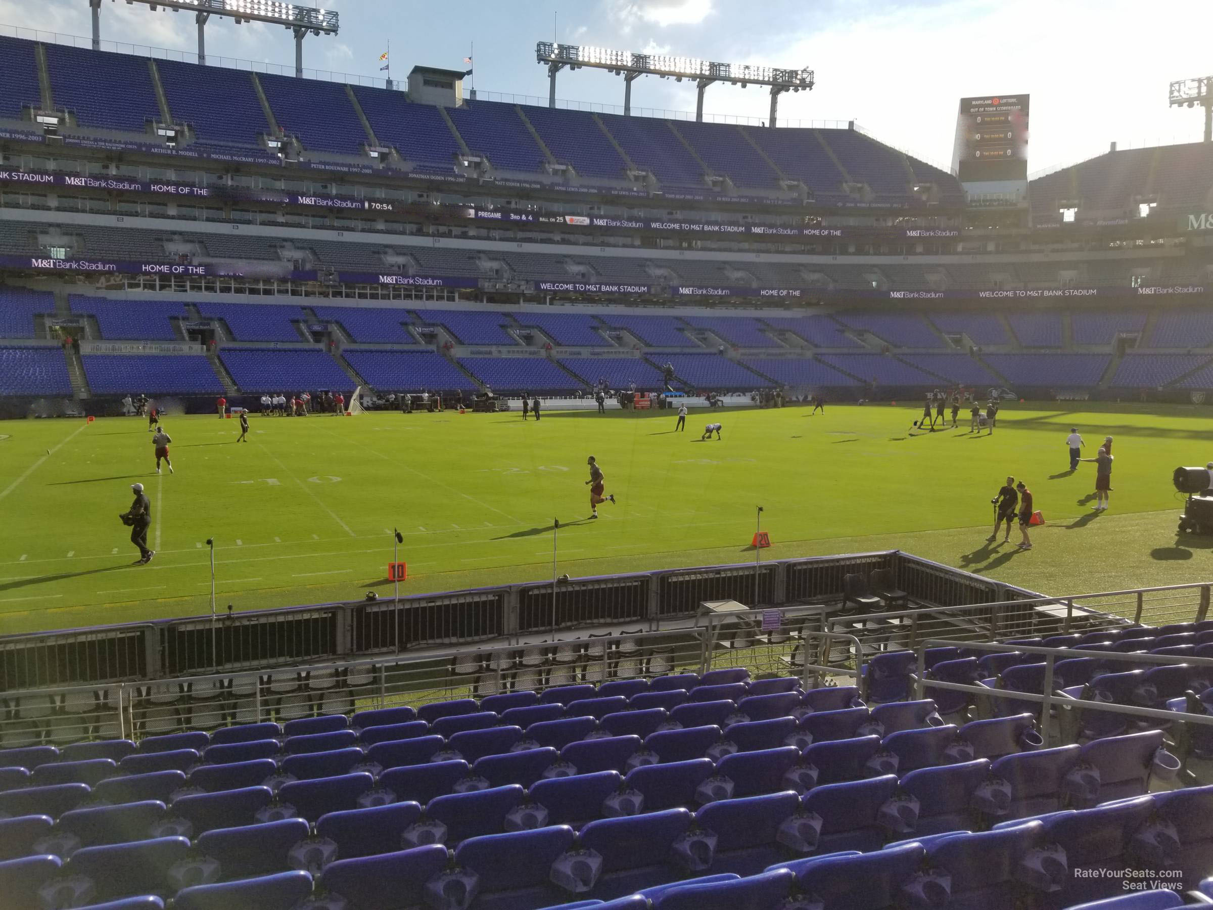
[[[1027,180],[1027,95],[961,98],[952,170],[962,183]]]

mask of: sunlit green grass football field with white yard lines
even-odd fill
[[[896,547],[1050,595],[1213,578],[1213,540],[1177,540],[1177,465],[1213,457],[1189,406],[1008,405],[992,436],[910,432],[918,406],[717,411],[700,442],[671,413],[599,416],[366,414],[254,417],[251,442],[216,417],[169,417],[176,473],[153,471],[139,419],[0,423],[0,632],[391,593],[391,529],[404,534],[402,593],[562,573],[747,562],[754,506],[763,558]],[[963,416],[963,415],[962,415]],[[1064,439],[1116,438],[1112,507],[1094,514],[1094,465],[1066,471]],[[7,434],[7,436],[6,436]],[[49,454],[47,454],[49,453]],[[619,504],[590,510],[586,456]],[[990,497],[1023,477],[1048,524],[1035,548],[986,544]],[[141,480],[152,500],[148,565],[118,513]],[[1016,540],[1012,538],[1012,544]]]

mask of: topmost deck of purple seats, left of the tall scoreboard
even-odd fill
[[[10,99],[8,115],[19,115],[22,106],[40,101],[34,46],[5,39],[0,96]],[[45,47],[56,104],[72,110],[81,126],[142,133],[149,120],[161,119],[146,57],[55,44]],[[269,131],[251,73],[161,59],[153,66],[172,119],[193,126],[198,141],[254,148],[258,136]],[[306,150],[363,153],[370,137],[343,84],[261,73],[255,78],[283,133],[297,136]],[[353,95],[375,137],[395,147],[406,161],[450,170],[462,152],[437,107],[411,103],[398,90],[358,85]],[[922,182],[939,186],[949,204],[961,200],[959,186],[950,175],[856,130],[768,130],[474,99],[449,108],[448,114],[467,148],[500,170],[543,170],[546,155],[525,118],[551,154],[571,164],[582,178],[626,180],[627,163],[617,146],[637,169],[668,187],[706,189],[705,177],[711,172],[729,177],[739,188],[778,189],[778,167],[821,198],[841,198],[849,177],[866,183],[877,200],[909,201],[912,186]]]

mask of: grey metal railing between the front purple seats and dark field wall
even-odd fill
[[[778,621],[771,613],[779,614]],[[722,667],[746,667],[752,676],[795,676],[805,688],[838,681],[861,687],[864,649],[859,639],[815,626],[816,618],[808,608],[745,610],[723,620],[700,618],[677,631],[634,630],[523,647],[478,647],[149,683],[29,689],[4,699],[0,746],[139,739],[229,723],[285,722],[314,713]],[[815,662],[809,659],[814,653],[841,656]]]

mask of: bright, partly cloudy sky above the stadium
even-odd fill
[[[1168,84],[1206,75],[1213,62],[1209,0],[326,0],[336,36],[309,36],[304,67],[381,76],[416,64],[465,68],[480,97],[547,97],[535,42],[674,53],[815,72],[811,92],[781,96],[780,121],[854,120],[870,135],[929,161],[952,155],[957,103],[978,95],[1031,95],[1029,172],[1120,148],[1196,141],[1202,112],[1171,109]],[[87,0],[0,0],[0,34],[13,27],[91,34]],[[102,0],[103,49],[127,42],[193,53],[188,12]],[[49,40],[44,38],[44,40]],[[474,47],[474,52],[473,49]],[[210,63],[230,57],[294,70],[281,28],[212,18]],[[188,57],[187,57],[188,58]],[[557,97],[621,106],[622,79],[562,72]],[[520,101],[520,98],[518,98]],[[633,113],[694,110],[695,89],[644,76]],[[765,120],[769,95],[714,85],[705,113]],[[622,113],[621,110],[619,113]],[[833,125],[833,124],[830,124]]]

